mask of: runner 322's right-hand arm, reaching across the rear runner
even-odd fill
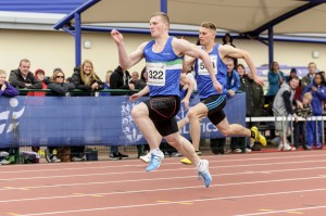
[[[210,73],[214,88],[218,92],[222,92],[222,85],[217,81],[217,79],[215,77],[212,61],[205,51],[196,47],[195,45],[191,45],[187,40],[183,40],[183,39],[174,39],[172,41],[172,45],[173,45],[173,49],[174,49],[175,53],[187,54],[195,59],[201,59]]]

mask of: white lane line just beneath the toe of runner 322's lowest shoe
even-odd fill
[[[224,185],[211,185],[213,187],[228,187],[228,186],[242,186],[242,185],[256,185],[256,183],[273,183],[273,182],[285,182],[285,181],[300,181],[300,180],[312,180],[312,179],[325,179],[326,177],[306,177],[306,178],[287,178],[278,180],[265,180],[265,181],[243,181],[235,183],[224,183]],[[24,201],[39,201],[39,200],[53,200],[53,199],[68,199],[68,198],[80,198],[90,195],[115,195],[115,194],[131,194],[131,193],[145,193],[145,192],[160,192],[160,191],[173,191],[173,190],[186,190],[186,189],[197,189],[203,186],[189,186],[189,187],[178,187],[178,188],[156,188],[156,189],[146,189],[146,190],[134,190],[134,191],[115,191],[109,193],[84,193],[74,195],[58,195],[58,196],[45,196],[45,198],[28,198],[28,199],[16,199],[16,200],[0,200],[0,203],[11,203],[11,202],[24,202]]]

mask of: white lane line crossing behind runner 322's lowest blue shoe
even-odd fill
[[[292,169],[266,169],[262,171],[240,171],[240,173],[225,173],[212,175],[213,177],[222,177],[222,176],[243,176],[243,175],[254,175],[254,174],[267,174],[272,175],[274,173],[288,173],[288,171],[302,171],[302,170],[317,170],[317,169],[326,169],[326,166],[321,167],[309,167],[309,168],[292,168]],[[180,177],[165,177],[165,178],[140,178],[140,179],[127,179],[127,180],[110,180],[110,181],[91,181],[91,182],[83,182],[83,183],[61,183],[61,185],[45,185],[45,186],[22,186],[22,187],[4,187],[0,188],[0,191],[7,190],[20,190],[24,189],[42,189],[42,188],[60,188],[60,187],[77,187],[77,186],[92,186],[92,185],[110,185],[110,183],[129,183],[129,182],[140,182],[140,181],[161,181],[161,180],[173,180],[173,179],[188,179],[193,178],[195,176],[180,176]],[[269,176],[268,176],[269,177]],[[319,175],[321,178],[326,178],[326,175]]]

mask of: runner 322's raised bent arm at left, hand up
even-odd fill
[[[137,64],[143,58],[142,50],[143,50],[145,46],[147,45],[147,42],[140,45],[130,54],[127,54],[125,45],[123,41],[123,39],[124,39],[123,35],[120,31],[117,31],[116,29],[113,29],[111,31],[111,37],[113,38],[113,40],[115,41],[115,43],[117,46],[118,62],[123,69],[130,68],[131,66]]]

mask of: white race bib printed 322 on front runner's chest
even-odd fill
[[[148,75],[148,85],[165,86],[166,65],[164,63],[147,63],[146,71]]]

